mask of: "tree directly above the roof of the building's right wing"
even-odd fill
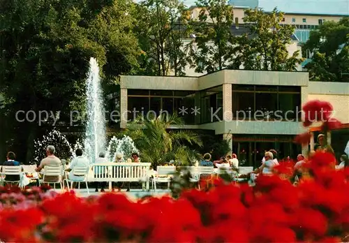
[[[281,24],[284,14],[276,10],[246,10],[244,22],[248,34],[237,37],[237,46],[230,53],[230,64],[249,70],[296,71],[299,51],[289,56],[288,45],[295,27]]]

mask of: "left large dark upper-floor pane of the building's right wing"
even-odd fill
[[[255,94],[244,92],[232,93],[232,116],[233,119],[253,117],[255,107]]]

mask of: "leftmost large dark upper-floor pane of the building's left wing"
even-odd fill
[[[128,119],[133,121],[136,117],[146,116],[149,111],[148,97],[128,97]]]

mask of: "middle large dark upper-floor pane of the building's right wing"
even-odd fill
[[[255,116],[254,119],[274,118],[274,112],[278,110],[278,94],[256,93],[255,94]]]

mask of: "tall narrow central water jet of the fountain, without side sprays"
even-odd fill
[[[89,75],[86,85],[87,122],[84,149],[90,163],[94,163],[98,154],[105,150],[105,112],[99,68],[97,60],[92,57],[89,61]]]

